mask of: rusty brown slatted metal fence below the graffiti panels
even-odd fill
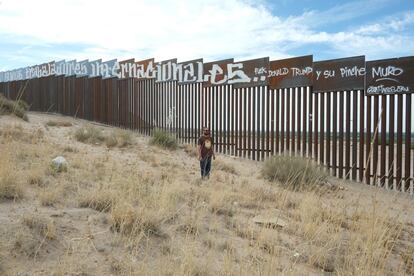
[[[308,57],[302,59],[270,63],[268,71],[289,68],[283,63],[306,68]],[[413,194],[413,93],[368,94],[360,85],[342,89],[340,81],[330,84],[329,79],[315,85],[322,72],[318,66],[336,66],[332,64],[314,63],[313,76],[292,84],[288,73],[254,85],[50,75],[1,82],[0,92],[21,98],[32,111],[145,135],[162,129],[183,143],[196,144],[202,127],[209,126],[217,152],[259,161],[272,155],[299,155],[314,159],[339,178]],[[211,64],[204,66],[211,69]],[[249,70],[248,64],[245,69]]]

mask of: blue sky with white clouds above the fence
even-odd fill
[[[61,59],[414,55],[409,0],[0,0],[0,70]]]

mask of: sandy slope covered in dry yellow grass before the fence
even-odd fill
[[[102,129],[106,143],[111,129]],[[0,181],[12,172],[25,193],[0,204],[0,267],[11,275],[412,274],[407,198],[331,189],[312,164],[291,159],[265,165],[269,182],[255,164],[220,156],[200,181],[194,148],[171,153],[139,137],[122,151],[79,145],[67,173],[48,175],[73,147],[57,132],[36,145],[0,136]]]

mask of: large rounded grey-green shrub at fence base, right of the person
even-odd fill
[[[267,160],[262,175],[293,189],[306,188],[326,182],[327,173],[311,160],[296,156],[274,156]]]

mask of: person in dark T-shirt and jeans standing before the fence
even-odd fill
[[[211,158],[216,159],[210,129],[203,127],[203,135],[198,139],[198,160],[200,161],[201,179],[210,177]]]

